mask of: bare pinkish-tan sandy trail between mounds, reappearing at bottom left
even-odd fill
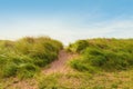
[[[48,69],[43,69],[42,73],[49,75],[54,72],[61,72],[61,73],[71,72],[72,70],[66,66],[66,62],[69,59],[75,56],[76,55],[68,53],[65,50],[61,50],[59,52],[58,60],[53,61]],[[16,83],[13,82],[13,85],[9,85],[8,87],[11,87],[13,89],[38,89],[35,80],[32,81],[14,80],[14,81]],[[31,83],[33,83],[34,86],[31,86]]]

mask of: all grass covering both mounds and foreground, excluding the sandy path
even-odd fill
[[[78,40],[66,48],[66,71],[40,72],[62,48],[47,37],[1,40],[0,89],[133,88],[133,39]]]

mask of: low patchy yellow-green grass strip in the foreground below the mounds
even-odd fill
[[[21,83],[14,87],[17,82]],[[2,89],[132,89],[133,88],[133,69],[122,70],[115,72],[102,71],[99,73],[88,72],[69,72],[69,73],[41,73],[30,80],[17,81],[16,79],[8,79],[0,82]],[[22,87],[23,86],[23,87]]]

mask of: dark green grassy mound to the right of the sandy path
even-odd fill
[[[79,40],[68,51],[80,55],[70,61],[79,71],[125,70],[133,66],[133,39]]]

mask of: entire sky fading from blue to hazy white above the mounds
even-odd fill
[[[0,39],[133,38],[133,0],[0,0]]]

